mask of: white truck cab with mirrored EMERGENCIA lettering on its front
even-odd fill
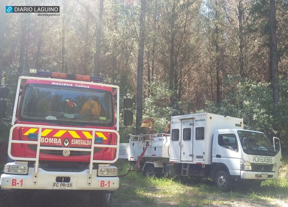
[[[226,169],[232,180],[249,179],[261,183],[266,179],[277,179],[282,158],[279,139],[274,137],[273,143],[274,146],[262,132],[219,129],[213,135],[212,162],[214,166],[221,165]],[[215,181],[226,188],[223,175]]]

